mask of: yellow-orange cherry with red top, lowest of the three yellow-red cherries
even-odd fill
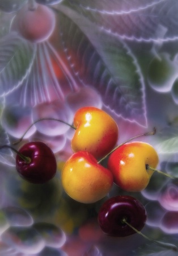
[[[85,204],[103,199],[113,185],[111,171],[98,164],[87,151],[70,156],[63,167],[61,180],[67,195]]]

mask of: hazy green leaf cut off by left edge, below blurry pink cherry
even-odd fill
[[[27,77],[36,53],[36,46],[15,32],[0,40],[0,97],[18,88]]]

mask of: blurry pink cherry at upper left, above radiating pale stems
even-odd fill
[[[16,15],[12,28],[32,42],[43,42],[52,34],[55,16],[49,7],[36,4],[33,8],[24,6]]]

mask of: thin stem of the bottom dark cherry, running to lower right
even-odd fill
[[[143,234],[142,232],[140,232],[138,229],[135,229],[134,226],[132,226],[129,222],[126,221],[126,218],[122,219],[122,223],[125,223],[126,225],[128,225],[130,228],[132,228],[136,233],[140,234],[142,237],[146,238],[147,240],[156,243],[157,245],[160,245],[166,249],[172,249],[173,251],[177,251],[177,246],[173,245],[172,243],[164,243],[164,242],[160,242],[154,239],[151,239],[150,237],[145,236],[145,234]]]

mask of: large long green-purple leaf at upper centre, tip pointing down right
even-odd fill
[[[147,126],[145,84],[129,46],[75,11],[57,8],[63,50],[79,84],[95,87],[118,116]]]

